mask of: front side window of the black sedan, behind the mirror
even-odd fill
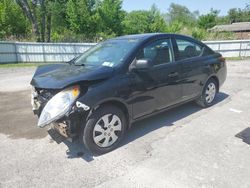
[[[139,50],[136,59],[151,59],[154,65],[172,62],[170,39],[163,39],[147,44]]]

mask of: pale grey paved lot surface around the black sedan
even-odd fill
[[[117,150],[92,157],[36,128],[34,68],[0,69],[0,187],[250,187],[250,62],[228,62],[211,108],[190,103],[136,123]]]

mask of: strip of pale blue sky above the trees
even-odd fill
[[[132,10],[148,10],[152,4],[161,10],[167,12],[171,3],[177,3],[186,6],[190,11],[198,10],[200,14],[206,14],[211,8],[220,10],[220,15],[224,16],[231,8],[245,8],[250,4],[250,0],[123,0],[123,9],[130,12]]]

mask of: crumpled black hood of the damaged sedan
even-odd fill
[[[38,67],[30,84],[44,89],[63,89],[81,81],[107,79],[112,73],[113,68],[105,66],[51,64]]]

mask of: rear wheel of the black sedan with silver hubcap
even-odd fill
[[[196,103],[202,108],[210,107],[214,104],[214,99],[218,93],[218,84],[215,79],[210,78],[205,84],[201,97]]]

